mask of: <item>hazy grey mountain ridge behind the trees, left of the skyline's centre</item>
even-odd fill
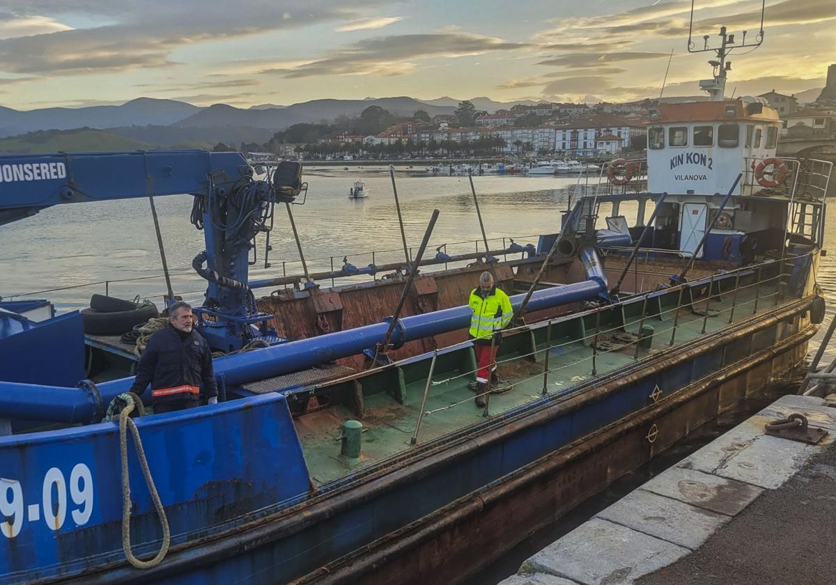
[[[249,126],[282,130],[302,122],[334,120],[338,115],[356,116],[364,109],[377,105],[397,116],[406,116],[423,109],[427,114],[452,114],[455,107],[426,104],[408,97],[378,99],[314,99],[282,109],[239,109],[227,104],[215,104],[173,124],[180,128],[212,128]]]

